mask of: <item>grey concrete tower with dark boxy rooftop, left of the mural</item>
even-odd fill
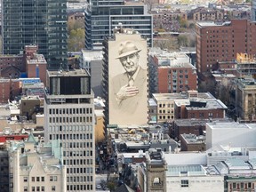
[[[84,69],[47,71],[45,140],[60,140],[67,191],[95,191],[94,94]]]

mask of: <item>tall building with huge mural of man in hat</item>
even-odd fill
[[[147,124],[147,40],[132,29],[120,29],[104,41],[103,52],[105,124]]]

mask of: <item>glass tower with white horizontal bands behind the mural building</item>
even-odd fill
[[[147,36],[148,45],[153,44],[153,20],[143,3],[124,0],[88,0],[85,11],[85,48],[101,49],[105,36],[113,36],[113,29],[133,28]]]

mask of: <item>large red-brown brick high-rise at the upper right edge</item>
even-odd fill
[[[196,68],[209,73],[219,62],[236,59],[237,52],[256,53],[256,23],[231,20],[222,23],[196,23]]]

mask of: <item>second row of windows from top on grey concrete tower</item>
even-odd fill
[[[49,123],[92,123],[92,116],[49,117]]]

